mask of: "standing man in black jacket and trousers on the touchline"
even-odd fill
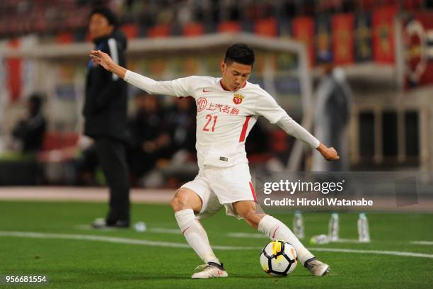
[[[125,65],[127,40],[117,30],[115,14],[96,8],[90,14],[89,32],[98,50]],[[95,141],[96,152],[110,187],[110,210],[93,227],[129,227],[129,174],[125,154],[127,84],[103,67],[88,62],[84,134]]]

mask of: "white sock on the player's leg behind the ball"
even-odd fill
[[[305,261],[313,258],[313,254],[306,249],[306,247],[299,241],[298,238],[291,232],[291,230],[284,225],[281,221],[275,219],[270,215],[265,215],[262,217],[258,225],[258,230],[264,233],[272,241],[281,240],[290,243],[294,246],[296,253],[298,254],[298,259],[301,264],[304,265]]]

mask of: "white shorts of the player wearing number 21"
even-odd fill
[[[202,199],[202,210],[197,215],[199,219],[214,215],[223,206],[226,208],[226,215],[241,219],[242,217],[233,211],[233,203],[239,200],[257,201],[247,163],[228,168],[200,169],[195,179],[181,188],[189,188]]]

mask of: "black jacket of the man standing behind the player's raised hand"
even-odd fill
[[[94,40],[96,50],[108,53],[125,67],[127,40],[120,30]],[[117,55],[116,55],[117,53]],[[88,62],[84,134],[125,140],[127,130],[127,83],[103,67]]]

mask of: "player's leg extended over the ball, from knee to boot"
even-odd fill
[[[299,261],[301,261],[314,276],[323,276],[329,271],[328,264],[318,261],[299,239],[296,238],[289,227],[275,217],[256,212],[255,205],[256,203],[253,200],[241,200],[233,203],[233,210],[237,215],[243,217],[248,225],[266,234],[270,239],[289,242],[294,246]]]

